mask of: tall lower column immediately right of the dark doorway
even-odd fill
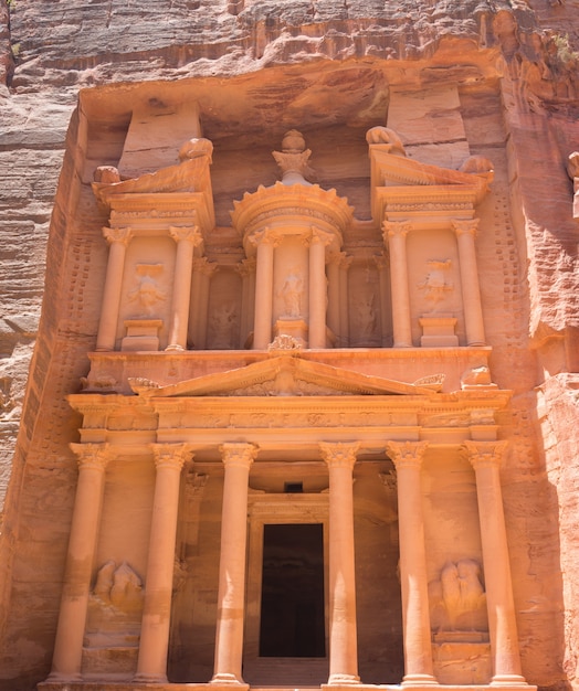
[[[329,471],[329,679],[359,683],[352,468],[358,444],[320,444]]]

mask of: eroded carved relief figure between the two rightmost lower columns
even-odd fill
[[[487,631],[486,595],[477,561],[448,562],[429,583],[430,623],[434,631]]]

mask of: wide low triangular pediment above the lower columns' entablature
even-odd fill
[[[129,383],[136,393],[147,397],[434,395],[425,386],[362,374],[293,355],[270,358],[169,386],[155,387],[155,384],[137,379],[129,380]]]

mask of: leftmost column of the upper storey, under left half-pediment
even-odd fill
[[[103,235],[110,248],[108,251],[96,350],[107,351],[115,350],[118,311],[120,309],[120,287],[123,285],[123,272],[125,270],[125,254],[133,232],[129,227],[104,227]]]

